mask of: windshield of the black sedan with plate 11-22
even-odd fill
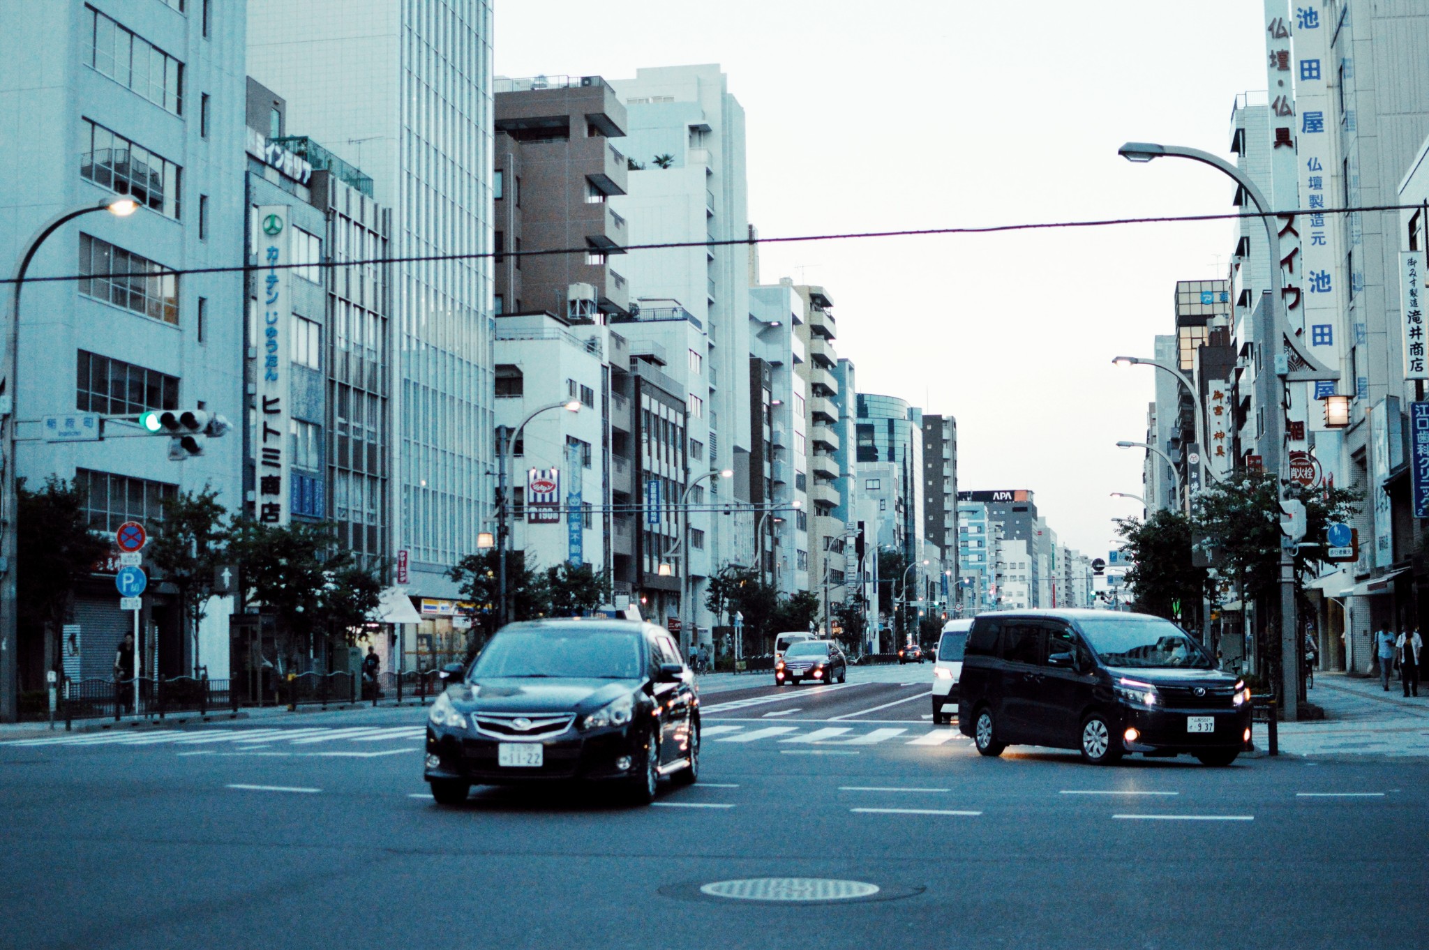
[[[520,630],[496,634],[472,667],[472,679],[633,680],[640,670],[640,637],[633,633]]]

